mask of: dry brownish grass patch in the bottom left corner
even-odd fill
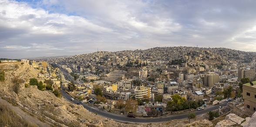
[[[24,121],[13,109],[0,104],[0,127],[37,127],[37,125]]]

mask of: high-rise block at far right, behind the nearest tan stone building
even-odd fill
[[[241,81],[242,78],[249,78],[250,81],[254,81],[256,76],[255,69],[238,69],[237,80]]]

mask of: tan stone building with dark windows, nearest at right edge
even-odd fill
[[[245,114],[253,114],[256,111],[256,81],[243,84],[243,99]]]

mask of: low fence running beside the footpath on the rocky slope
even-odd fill
[[[30,112],[32,115],[35,115],[35,116],[41,118],[42,120],[45,120],[45,121],[47,121],[47,122],[53,124],[54,127],[61,127],[61,125],[69,126],[69,125],[67,125],[67,124],[62,123],[61,121],[54,120],[54,119],[52,119],[52,118],[50,118],[50,117],[47,117],[47,116],[45,116],[44,114],[41,114],[40,112],[38,112],[38,111],[36,111],[36,110],[34,110],[34,109],[28,107],[28,106],[25,105],[25,104],[22,104],[20,101],[17,101],[17,100],[15,100],[15,99],[11,98],[11,97],[8,97],[8,96],[6,96],[6,95],[4,95],[4,94],[1,94],[1,93],[0,93],[0,96],[2,96],[3,98],[5,98],[6,100],[12,102],[13,104],[16,104],[17,106],[20,106],[24,111],[28,111],[28,112]]]

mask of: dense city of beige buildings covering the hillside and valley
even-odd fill
[[[1,60],[1,64],[11,62],[17,61]],[[188,127],[193,126],[190,119],[206,113],[209,121],[217,118],[209,127],[228,127],[221,125],[231,122],[247,127],[256,111],[256,52],[178,46],[20,62],[37,74],[24,79],[25,88],[37,85],[58,98],[86,105],[88,111],[94,107],[135,119],[185,114],[184,118],[189,115]],[[227,118],[231,113],[236,120]]]

